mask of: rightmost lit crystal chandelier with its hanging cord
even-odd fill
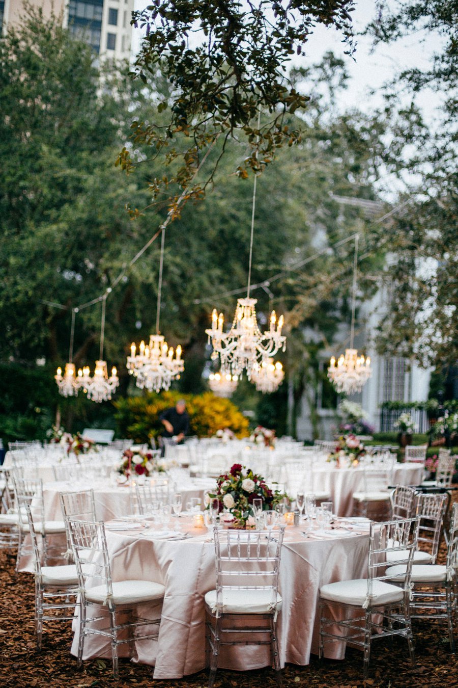
[[[350,349],[345,350],[345,355],[341,354],[336,364],[335,356],[330,360],[328,367],[328,378],[334,383],[336,390],[343,394],[354,394],[361,391],[363,386],[372,374],[371,359],[365,358],[363,354],[358,356],[358,350],[354,349],[354,316],[356,310],[356,270],[358,267],[358,241],[359,236],[355,236],[354,244],[354,264],[353,264],[353,286],[352,286],[352,326],[350,328]]]

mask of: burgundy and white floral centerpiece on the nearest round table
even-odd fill
[[[287,497],[286,493],[271,490],[261,475],[256,475],[242,464],[233,464],[229,473],[222,473],[216,479],[216,490],[207,495],[207,506],[218,501],[220,513],[225,512],[235,528],[253,528],[255,515],[253,499],[262,499],[262,509],[272,509]]]

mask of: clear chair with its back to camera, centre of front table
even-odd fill
[[[277,684],[282,684],[276,622],[282,608],[278,577],[283,536],[284,527],[266,531],[214,529],[216,590],[205,595],[209,688],[214,685],[220,647],[239,643],[270,645]],[[236,619],[247,617],[251,623],[234,625]],[[242,634],[239,643],[238,633]]]

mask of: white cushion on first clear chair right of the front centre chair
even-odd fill
[[[320,595],[331,602],[341,602],[362,607],[366,600],[367,579],[355,579],[353,581],[339,581],[328,583],[320,588]],[[384,581],[374,581],[372,586],[371,606],[400,602],[404,596],[401,588]]]

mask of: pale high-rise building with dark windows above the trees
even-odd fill
[[[32,7],[62,14],[64,26],[88,41],[100,56],[128,59],[132,42],[130,17],[134,0],[29,0]],[[25,14],[23,0],[0,0],[0,29],[20,24]]]

